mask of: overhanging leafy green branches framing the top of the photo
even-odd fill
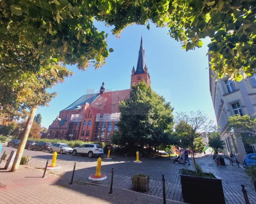
[[[130,24],[169,27],[182,48],[202,46],[209,36],[210,66],[217,75],[241,80],[255,60],[256,0],[3,0],[0,2],[0,82],[26,83],[56,62],[84,70],[102,66],[113,51],[94,18],[119,35]],[[37,64],[35,67],[34,64]]]

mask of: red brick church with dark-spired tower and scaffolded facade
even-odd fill
[[[137,68],[135,70],[133,66],[130,87],[142,80],[150,86],[141,39]],[[103,82],[100,93],[83,95],[60,111],[42,138],[110,142],[111,135],[118,130],[119,102],[129,98],[131,89],[105,92],[104,85]]]

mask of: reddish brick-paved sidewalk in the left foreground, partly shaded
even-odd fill
[[[4,170],[6,162],[0,164],[0,203],[88,203],[88,204],[160,204],[163,199],[134,191],[109,186],[92,185],[86,182],[73,182],[62,177],[46,174],[43,171],[20,165],[18,171]],[[166,204],[182,202],[166,199]]]

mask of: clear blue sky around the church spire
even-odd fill
[[[129,26],[118,39],[111,34],[111,28],[96,22],[100,32],[104,30],[108,33],[108,49],[113,48],[114,52],[106,59],[107,63],[97,70],[93,66],[85,71],[67,66],[74,76],[49,90],[58,92],[58,95],[48,107],[38,108],[36,114],[42,115],[41,125],[48,128],[60,111],[82,95],[99,92],[103,81],[105,91],[129,89],[132,68],[134,66],[136,69],[137,66],[141,36],[151,87],[171,102],[174,115],[200,110],[217,124],[209,91],[206,56],[210,40],[204,40],[203,47],[186,52],[181,49],[181,42],[167,35],[168,28],[156,28],[153,24],[150,26],[150,30],[146,26]]]

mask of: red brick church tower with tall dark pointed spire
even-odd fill
[[[145,51],[143,50],[143,42],[141,38],[137,68],[135,70],[133,66],[130,87],[132,88],[133,85],[136,86],[139,82],[142,82],[143,80],[148,86],[150,86],[150,76],[145,63]]]

